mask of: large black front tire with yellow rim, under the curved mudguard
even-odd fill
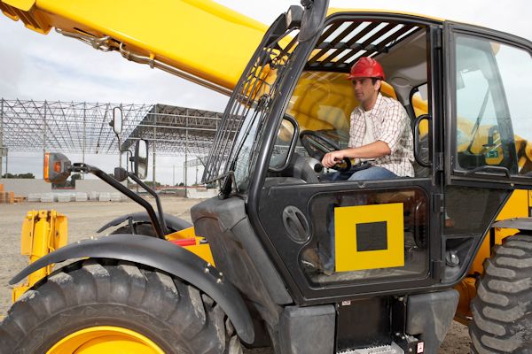
[[[218,304],[167,273],[129,262],[89,259],[28,290],[0,323],[0,352],[46,353],[87,327],[124,327],[165,353],[240,353]]]

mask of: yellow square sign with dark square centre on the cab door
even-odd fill
[[[403,203],[334,208],[336,272],[404,266]]]

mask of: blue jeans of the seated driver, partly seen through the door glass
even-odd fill
[[[384,167],[379,166],[371,166],[369,168],[366,168],[361,171],[357,171],[356,173],[353,173],[351,177],[349,177],[348,181],[367,181],[367,180],[390,180],[393,178],[397,178],[397,175],[393,172],[388,171]],[[366,201],[365,198],[359,198],[358,203],[359,205],[365,204]],[[329,207],[327,209],[327,222],[329,224],[328,231],[329,231],[329,252],[326,252],[320,250],[318,253],[321,256],[321,258],[324,260],[324,271],[325,273],[332,273],[334,272],[334,264],[336,262],[336,258],[334,256],[335,252],[335,242],[334,242],[334,207],[340,206],[338,204],[329,204]]]

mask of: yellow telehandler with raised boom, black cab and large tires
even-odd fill
[[[48,156],[48,180],[93,173],[146,212],[109,222],[129,221],[112,235],[49,242],[10,281],[44,269],[0,324],[6,353],[232,354],[244,342],[283,354],[432,354],[453,318],[469,325],[473,353],[532,347],[532,42],[323,0],[291,6],[270,28],[208,1],[0,8],[231,93],[203,176],[220,196],[192,208],[193,228],[119,183],[142,185],[145,142],[134,172],[114,177]],[[169,34],[176,13],[201,27]],[[348,144],[358,102],[345,78],[363,56],[383,65],[383,96],[411,117],[413,178],[332,182],[320,164]]]

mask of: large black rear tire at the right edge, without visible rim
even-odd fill
[[[472,353],[532,353],[532,236],[507,237],[486,259],[472,312]]]

